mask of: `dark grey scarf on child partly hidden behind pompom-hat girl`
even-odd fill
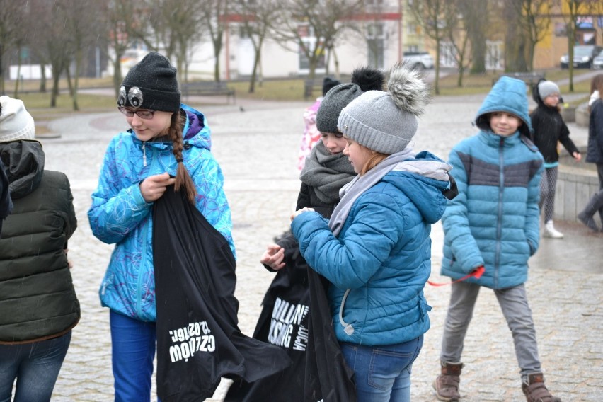
[[[339,200],[339,190],[356,176],[348,157],[331,154],[323,142],[318,142],[306,158],[299,179],[316,190],[322,202],[333,204]]]

